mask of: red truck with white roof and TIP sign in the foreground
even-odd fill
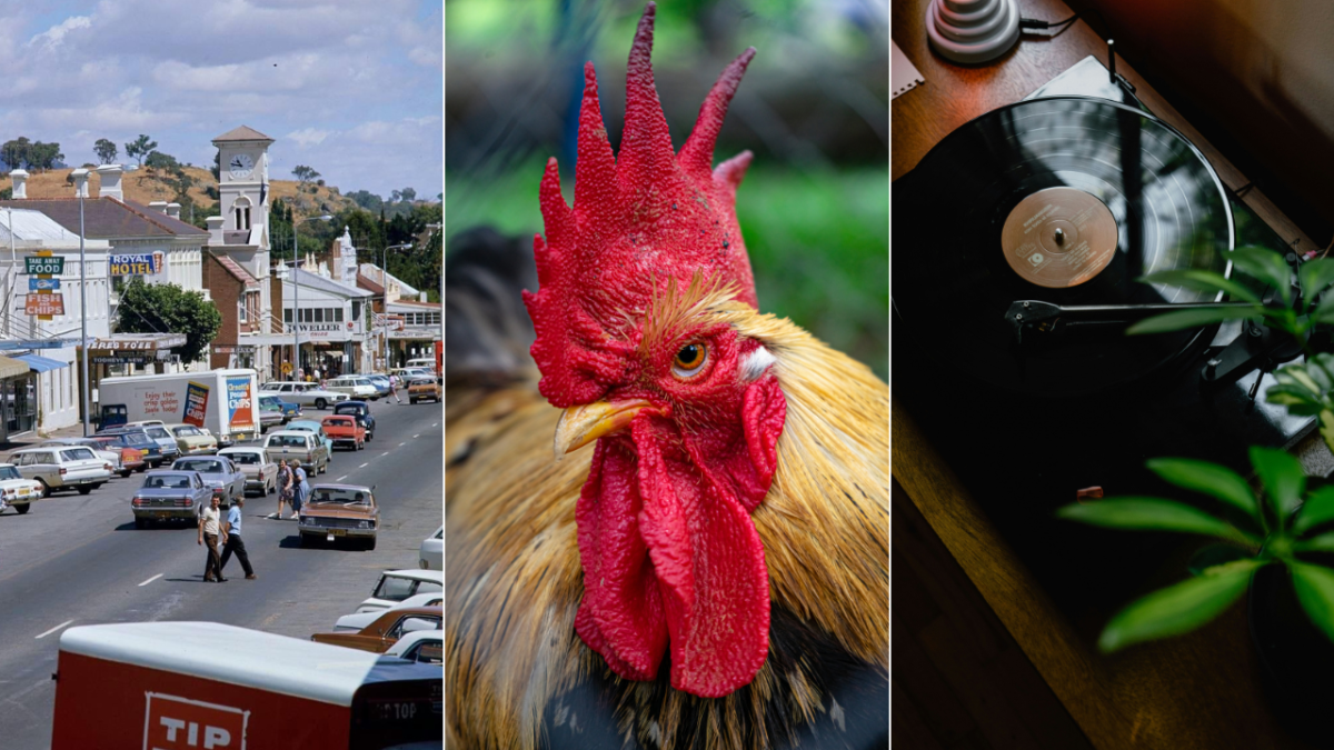
[[[216,622],[60,635],[52,750],[439,747],[444,671]]]

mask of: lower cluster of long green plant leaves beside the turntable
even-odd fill
[[[1229,519],[1163,498],[1107,498],[1062,507],[1057,515],[1107,528],[1177,531],[1221,539],[1190,563],[1191,577],[1159,589],[1121,610],[1103,629],[1098,647],[1115,651],[1142,641],[1189,633],[1226,611],[1262,566],[1281,563],[1315,626],[1334,641],[1334,570],[1301,559],[1334,552],[1334,486],[1307,492],[1301,463],[1285,451],[1251,447],[1263,492],[1237,472],[1202,460],[1162,458],[1149,468],[1165,482],[1225,503]]]

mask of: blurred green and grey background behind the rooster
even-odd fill
[[[542,231],[548,156],[574,195],[583,63],[612,148],[642,1],[446,1],[446,247]],[[715,163],[751,149],[736,214],[760,308],[888,372],[888,19],[868,0],[663,0],[654,71],[679,149],[722,69],[758,53]],[[448,252],[448,250],[447,250]]]

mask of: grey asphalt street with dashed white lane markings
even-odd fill
[[[59,492],[27,515],[0,514],[0,746],[49,747],[51,674],[65,627],[213,621],[309,638],[355,611],[382,570],[418,567],[422,539],[444,516],[444,410],[382,400],[371,414],[375,440],[363,451],[335,451],[328,474],[309,482],[376,487],[374,551],[301,548],[296,522],[265,518],[277,495],[251,496],[241,528],[259,578],[245,581],[233,558],[227,583],[204,583],[193,527],[135,528],[129,498],[140,474],[89,495]]]

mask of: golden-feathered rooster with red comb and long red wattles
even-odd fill
[[[755,51],[675,153],[654,11],[619,155],[590,63],[574,206],[555,159],[540,183],[539,290],[523,294],[536,372],[450,380],[447,737],[884,746],[888,387],[756,310],[735,218],[751,155],[712,167]],[[504,328],[486,320],[512,304],[492,282],[447,290],[467,300],[450,302],[451,331],[470,308]]]

